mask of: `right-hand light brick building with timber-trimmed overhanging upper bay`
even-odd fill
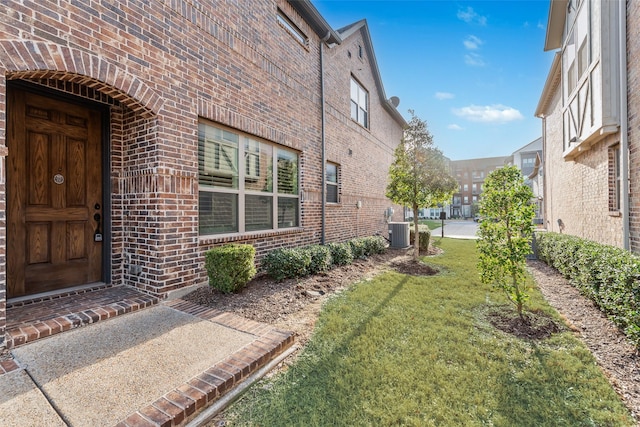
[[[544,48],[557,52],[536,110],[543,120],[547,230],[634,251],[640,251],[640,136],[633,123],[640,109],[639,24],[638,2],[551,1]]]

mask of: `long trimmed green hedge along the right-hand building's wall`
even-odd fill
[[[640,347],[640,257],[576,236],[536,233],[538,257],[558,270]]]

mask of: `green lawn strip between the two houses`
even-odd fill
[[[252,426],[632,426],[570,333],[527,341],[485,319],[504,304],[481,285],[473,241],[437,239],[432,277],[387,272],[323,307],[285,373],[230,407]],[[537,291],[532,308],[555,313]]]

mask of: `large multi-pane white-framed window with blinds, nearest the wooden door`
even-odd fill
[[[299,224],[298,154],[293,150],[200,119],[198,183],[200,235]]]

